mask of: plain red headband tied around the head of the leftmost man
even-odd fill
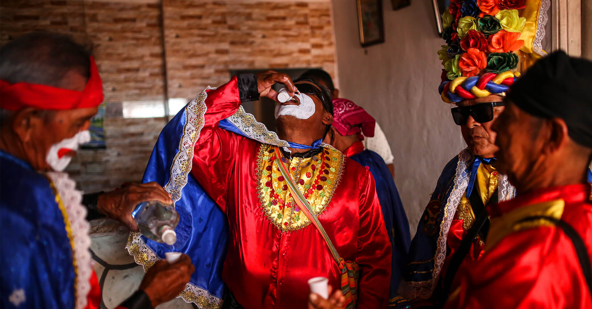
[[[103,102],[101,76],[91,56],[91,78],[84,91],[73,91],[35,83],[8,83],[0,80],[0,108],[16,111],[24,107],[41,110],[73,110],[97,107]]]

